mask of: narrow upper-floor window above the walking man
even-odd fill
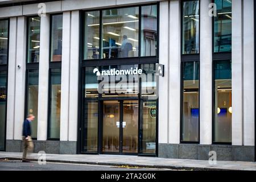
[[[40,17],[28,18],[27,63],[39,62],[40,49]]]

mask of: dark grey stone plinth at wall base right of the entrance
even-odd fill
[[[165,143],[158,145],[160,158],[208,160],[210,151],[216,152],[217,160],[254,162],[254,146]]]

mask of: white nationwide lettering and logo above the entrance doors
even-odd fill
[[[93,73],[97,76],[115,76],[115,75],[141,75],[142,69],[138,68],[131,68],[131,69],[110,69],[110,70],[103,70],[98,71],[98,68],[93,69]]]

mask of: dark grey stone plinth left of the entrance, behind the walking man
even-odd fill
[[[34,151],[44,151],[46,154],[76,154],[75,141],[57,141],[57,140],[34,140]],[[22,140],[6,140],[6,152],[22,152]]]

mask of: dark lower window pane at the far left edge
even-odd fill
[[[0,150],[5,150],[7,72],[0,71]]]

